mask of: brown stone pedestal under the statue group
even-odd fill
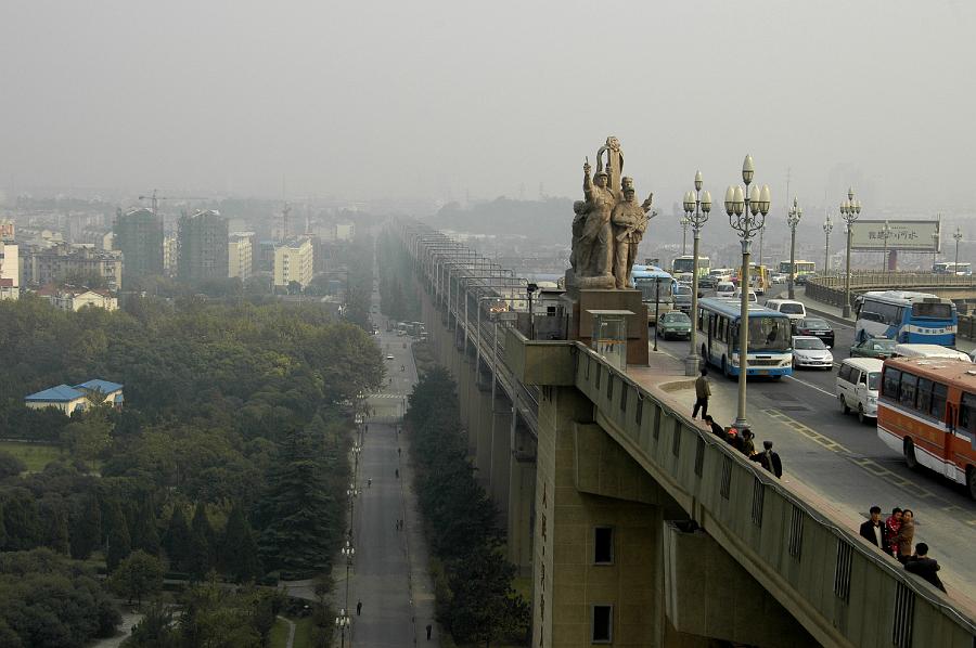
[[[564,295],[566,312],[569,314],[570,340],[579,340],[593,346],[593,319],[587,311],[630,311],[627,317],[627,364],[646,366],[647,351],[647,307],[641,301],[641,291],[588,290],[582,288],[579,296]]]

